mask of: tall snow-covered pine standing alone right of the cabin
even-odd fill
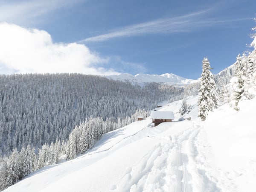
[[[214,77],[210,72],[211,67],[208,58],[204,58],[202,67],[201,84],[198,90],[198,117],[204,121],[208,112],[218,106],[218,96]]]

